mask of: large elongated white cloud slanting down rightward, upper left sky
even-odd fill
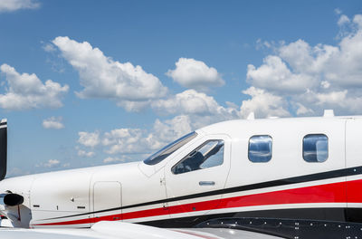
[[[115,100],[126,110],[139,110],[139,104],[159,99],[167,93],[167,88],[156,76],[145,72],[139,65],[114,61],[90,43],[78,43],[61,36],[52,43],[79,72],[81,86],[84,87],[77,92],[80,98]]]

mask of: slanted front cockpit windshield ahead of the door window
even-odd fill
[[[168,144],[166,147],[161,148],[159,151],[157,151],[157,153],[146,158],[143,162],[147,165],[156,165],[175,152],[178,148],[186,145],[187,142],[191,141],[191,139],[194,139],[196,136],[197,134],[195,131],[186,134],[186,136],[183,136],[180,139],[177,139],[176,141]]]

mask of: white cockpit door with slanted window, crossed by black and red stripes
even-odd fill
[[[230,138],[207,136],[186,148],[165,167],[167,207],[171,217],[209,214],[222,197],[230,169]],[[211,194],[211,195],[210,195]]]

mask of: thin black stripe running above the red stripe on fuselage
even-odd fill
[[[151,201],[136,205],[129,205],[129,206],[121,206],[121,207],[115,207],[105,210],[100,210],[96,212],[90,212],[90,213],[84,213],[79,215],[67,215],[67,216],[61,216],[61,217],[53,217],[45,220],[52,220],[52,219],[60,219],[60,218],[67,218],[67,217],[73,217],[73,216],[80,216],[80,215],[90,215],[90,214],[97,214],[97,213],[104,213],[109,211],[116,211],[121,209],[128,209],[132,207],[138,207],[138,206],[150,206],[155,204],[164,204],[164,203],[170,203],[175,201],[181,201],[186,199],[194,199],[198,197],[204,197],[204,196],[216,196],[216,195],[223,195],[223,194],[230,194],[235,192],[243,192],[253,189],[260,189],[260,188],[267,188],[271,186],[286,186],[286,185],[292,185],[292,184],[299,184],[299,183],[306,183],[311,181],[317,181],[317,180],[324,180],[324,179],[330,179],[335,177],[348,177],[348,176],[354,176],[354,175],[360,175],[362,174],[362,167],[349,167],[344,169],[338,169],[323,173],[317,173],[317,174],[310,174],[306,176],[299,176],[299,177],[288,177],[284,179],[278,179],[278,180],[272,180],[268,182],[262,182],[252,185],[246,185],[246,186],[234,186],[214,191],[208,191],[205,193],[199,193],[199,194],[193,194],[193,195],[186,195],[186,196],[176,196],[171,197],[167,199],[157,200],[157,201]]]

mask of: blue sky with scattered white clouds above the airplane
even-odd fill
[[[0,0],[7,177],[228,120],[362,114],[362,2]]]

